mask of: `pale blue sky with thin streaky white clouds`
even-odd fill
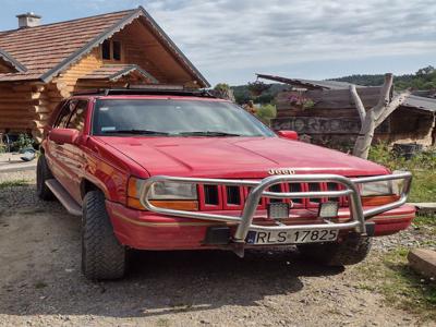
[[[414,73],[436,65],[435,0],[0,0],[0,31],[16,14],[43,23],[143,5],[215,85],[255,73],[322,80]]]

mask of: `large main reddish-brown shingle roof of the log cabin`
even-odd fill
[[[138,17],[147,20],[161,41],[204,86],[209,85],[142,7],[37,27],[0,32],[0,50],[27,70],[26,73],[0,74],[0,82],[23,80],[48,82]]]

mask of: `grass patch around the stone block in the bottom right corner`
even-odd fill
[[[423,279],[410,268],[408,253],[409,249],[398,247],[360,266],[365,281],[356,288],[376,291],[388,305],[419,315],[423,320],[436,319],[436,282]]]

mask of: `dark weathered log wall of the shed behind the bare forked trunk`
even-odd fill
[[[366,109],[378,101],[380,88],[358,88]],[[304,97],[314,101],[312,108],[303,109],[291,104],[292,97]],[[360,118],[348,89],[282,92],[276,98],[277,118],[271,121],[275,130],[301,130],[312,142],[343,148],[352,145],[360,130]],[[416,142],[425,146],[435,143],[432,112],[400,107],[377,130],[374,141],[389,143]]]

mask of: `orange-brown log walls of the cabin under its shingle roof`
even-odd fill
[[[113,39],[122,43],[121,62],[104,62],[100,48],[96,48],[48,84],[0,83],[0,133],[32,132],[40,141],[52,110],[73,92],[124,87],[126,83],[132,83],[132,76],[117,82],[81,80],[105,63],[134,63],[148,71],[160,83],[198,87],[191,73],[157,41],[143,23],[134,22],[117,33]],[[10,71],[11,66],[0,60],[0,73]]]

